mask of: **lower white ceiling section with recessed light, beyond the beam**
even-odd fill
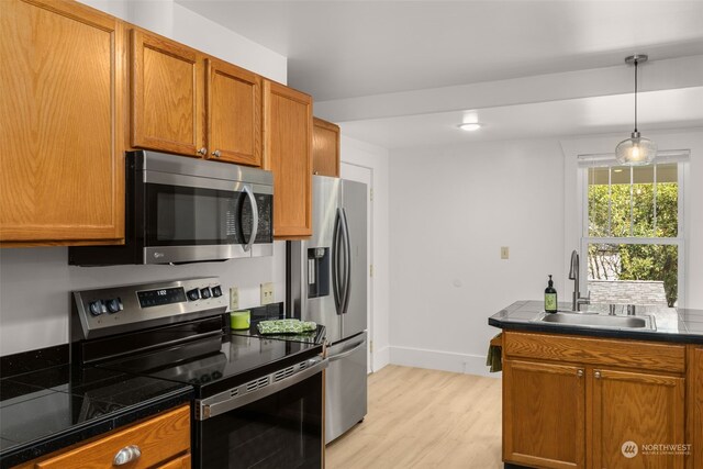
[[[640,93],[638,101],[643,136],[654,130],[703,127],[703,87]],[[466,132],[457,127],[461,122],[484,126]],[[384,148],[614,132],[621,132],[625,139],[633,130],[633,98],[616,94],[350,121],[342,129],[344,134]]]

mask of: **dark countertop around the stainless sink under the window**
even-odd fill
[[[654,305],[637,305],[637,315],[650,315],[657,326],[652,330],[604,328],[594,326],[574,326],[540,322],[544,313],[542,301],[516,301],[489,317],[489,325],[503,330],[534,331],[553,334],[576,334],[594,337],[627,338],[638,340],[677,342],[703,344],[703,310],[673,309]],[[559,303],[560,310],[569,310],[569,303]],[[589,304],[584,311],[605,314],[607,304]],[[625,305],[615,305],[617,315],[625,315]]]

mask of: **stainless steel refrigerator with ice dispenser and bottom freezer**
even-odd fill
[[[288,313],[326,327],[325,443],[367,410],[367,188],[313,176],[310,241],[288,243]]]

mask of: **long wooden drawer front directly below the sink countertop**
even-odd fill
[[[685,347],[643,340],[505,332],[509,357],[571,361],[682,373]]]

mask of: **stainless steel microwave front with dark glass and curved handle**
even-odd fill
[[[145,171],[145,264],[252,257],[257,239],[272,243],[272,228],[260,228],[266,226],[260,220],[272,214],[272,202],[253,186]]]

